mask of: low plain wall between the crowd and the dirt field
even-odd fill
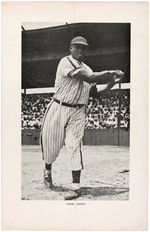
[[[40,129],[21,131],[22,145],[39,145]],[[130,146],[130,130],[118,128],[85,129],[83,145]]]

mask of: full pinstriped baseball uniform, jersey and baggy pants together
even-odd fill
[[[80,69],[92,70],[72,56],[64,57],[57,68],[54,97],[69,104],[87,104],[90,84],[73,77]],[[52,100],[43,120],[41,131],[42,154],[45,163],[53,163],[64,144],[67,147],[70,170],[81,170],[81,141],[84,135],[85,106],[67,107]]]

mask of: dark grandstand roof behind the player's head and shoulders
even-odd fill
[[[22,88],[53,87],[59,60],[78,35],[90,45],[85,63],[93,71],[121,69],[130,82],[129,23],[66,23],[22,31]]]

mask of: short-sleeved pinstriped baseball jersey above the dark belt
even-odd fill
[[[71,55],[61,59],[56,72],[55,98],[70,104],[88,103],[91,85],[68,76],[69,73],[73,76],[74,72],[77,73],[81,68],[92,75],[93,71],[86,64],[80,63]]]

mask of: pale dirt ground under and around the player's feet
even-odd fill
[[[83,146],[82,151],[81,196],[76,201],[129,200],[129,148]],[[53,164],[53,183],[57,186],[53,191],[44,186],[43,170],[40,146],[22,146],[21,199],[64,201],[71,183],[65,146]]]

